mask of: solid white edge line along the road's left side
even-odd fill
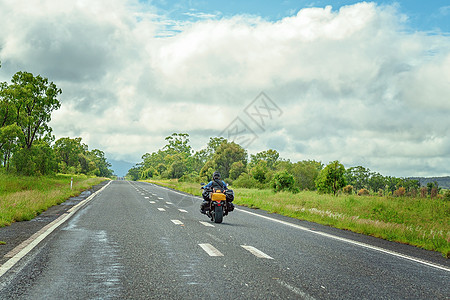
[[[28,244],[25,248],[19,251],[16,255],[7,260],[3,265],[0,266],[0,277],[2,277],[9,269],[11,269],[20,259],[22,259],[25,255],[28,254],[34,247],[36,247],[43,239],[45,239],[50,233],[52,233],[56,228],[58,228],[61,224],[66,222],[73,214],[75,214],[81,207],[91,201],[97,194],[99,194],[103,189],[105,189],[108,185],[110,185],[112,181],[110,180],[104,187],[102,187],[97,192],[90,195],[88,198],[84,199],[77,205],[70,208],[67,213],[61,215],[58,219],[53,221],[50,224],[53,224],[49,227],[43,234],[38,236],[35,240],[33,240],[30,244]],[[20,247],[20,245],[19,245]]]

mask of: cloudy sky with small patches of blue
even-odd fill
[[[63,90],[50,126],[131,163],[188,133],[249,154],[450,175],[450,2],[0,0],[0,81]]]

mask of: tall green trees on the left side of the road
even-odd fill
[[[102,151],[89,151],[81,138],[55,141],[48,123],[61,107],[61,93],[47,78],[22,71],[14,74],[11,83],[0,83],[0,169],[28,176],[111,177],[111,164]]]

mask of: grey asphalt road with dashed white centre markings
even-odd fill
[[[200,202],[114,181],[0,278],[0,299],[450,298],[444,259],[246,208],[214,224]]]

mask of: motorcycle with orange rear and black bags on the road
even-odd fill
[[[234,192],[232,190],[223,189],[205,189],[202,183],[202,190],[209,193],[209,206],[206,208],[206,215],[214,223],[222,223],[223,217],[228,215],[229,212],[234,210],[234,206],[231,203],[234,199]]]

